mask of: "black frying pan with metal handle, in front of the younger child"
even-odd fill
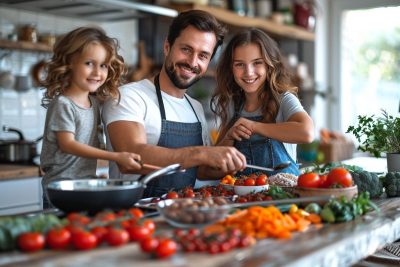
[[[63,179],[47,184],[50,202],[64,212],[88,211],[132,207],[143,197],[146,184],[154,178],[184,171],[179,164],[153,171],[139,180],[129,179]]]

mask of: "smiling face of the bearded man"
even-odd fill
[[[206,72],[217,43],[213,32],[188,26],[171,46],[164,43],[165,71],[179,89],[187,89]]]

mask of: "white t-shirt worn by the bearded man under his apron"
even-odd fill
[[[122,120],[141,123],[146,130],[147,143],[156,145],[161,134],[161,114],[154,84],[147,79],[128,83],[120,87],[120,93],[121,98],[119,103],[117,100],[110,99],[103,106],[102,118],[106,128],[108,124],[114,121]],[[169,121],[193,123],[197,122],[197,115],[202,126],[203,144],[209,145],[210,138],[207,121],[200,102],[186,95],[196,112],[195,114],[185,97],[176,98],[162,91],[161,96],[166,119]],[[107,149],[113,151],[107,131],[106,136]],[[121,174],[114,162],[110,162],[109,174],[110,178],[138,177],[138,175]]]

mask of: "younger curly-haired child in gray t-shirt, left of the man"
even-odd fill
[[[139,155],[100,149],[100,102],[119,98],[124,72],[118,42],[100,28],[77,28],[57,41],[47,65],[47,108],[40,157],[42,184],[61,178],[95,177],[97,159],[140,169]],[[99,101],[100,100],[100,101]]]

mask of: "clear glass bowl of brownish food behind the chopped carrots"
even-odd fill
[[[230,201],[225,197],[177,198],[157,203],[157,210],[172,226],[198,228],[216,223],[229,214]]]

